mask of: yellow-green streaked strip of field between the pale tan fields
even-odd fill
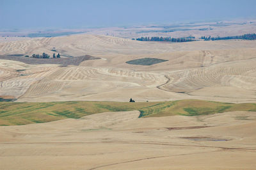
[[[140,111],[139,118],[199,116],[227,111],[254,111],[256,104],[232,104],[205,100],[169,102],[0,102],[0,125],[26,125],[66,118],[78,119],[99,112]]]

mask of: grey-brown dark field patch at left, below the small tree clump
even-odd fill
[[[20,58],[17,56],[0,56],[0,59],[9,59],[13,61],[20,61],[29,65],[43,65],[43,64],[56,64],[56,65],[79,65],[81,62],[90,59],[100,59],[93,56],[85,55],[74,58]]]

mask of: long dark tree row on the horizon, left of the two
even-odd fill
[[[148,42],[193,42],[196,40],[193,40],[195,38],[194,36],[188,36],[188,37],[182,37],[182,38],[172,38],[172,37],[159,37],[159,36],[152,36],[150,37],[143,37],[141,38],[132,38],[132,40],[137,40],[137,41],[148,41]]]

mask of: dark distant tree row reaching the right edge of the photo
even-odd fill
[[[211,36],[202,36],[201,39],[204,41],[215,41],[215,40],[232,40],[232,39],[241,39],[241,40],[256,40],[256,34],[246,34],[246,35],[239,35],[239,36],[224,36],[224,37],[211,37]]]

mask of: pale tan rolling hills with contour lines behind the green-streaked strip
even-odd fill
[[[0,94],[18,102],[124,102],[131,97],[143,102],[188,98],[256,101],[255,40],[159,43],[72,35],[0,43],[0,55],[52,54],[53,47],[61,55],[90,54],[101,59],[67,67],[1,60]],[[150,66],[125,63],[138,58],[168,61]]]

